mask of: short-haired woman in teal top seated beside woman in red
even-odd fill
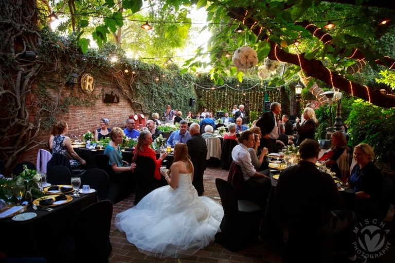
[[[110,159],[111,168],[115,173],[128,172],[136,167],[133,163],[130,165],[128,162],[122,160],[122,152],[119,144],[123,141],[123,131],[121,128],[115,127],[110,132],[111,142],[107,144],[104,149],[104,155],[107,155]],[[131,173],[129,173],[131,176]]]

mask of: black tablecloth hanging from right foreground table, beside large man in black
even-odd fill
[[[269,242],[283,242],[282,237],[282,229],[281,222],[277,220],[275,217],[275,207],[274,207],[274,199],[276,194],[276,185],[277,180],[273,178],[275,174],[279,172],[270,173],[270,179],[272,181],[272,188],[270,190],[270,196],[267,201],[265,216],[263,217],[261,230],[259,232],[259,236]],[[355,212],[355,192],[348,188],[344,191],[340,192],[340,195],[343,197],[343,208],[350,209]]]

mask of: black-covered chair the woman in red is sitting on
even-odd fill
[[[138,202],[152,190],[160,187],[160,180],[154,178],[155,169],[155,162],[150,157],[137,157],[136,168],[134,169],[136,179],[136,196],[134,204],[138,204]]]

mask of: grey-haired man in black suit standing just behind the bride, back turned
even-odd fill
[[[191,157],[191,162],[194,168],[192,184],[197,190],[197,195],[201,196],[204,192],[203,174],[201,174],[201,169],[204,169],[205,167],[200,167],[200,164],[202,162],[202,154],[207,150],[207,145],[205,139],[200,135],[199,130],[199,124],[191,124],[189,127],[191,138],[187,142],[187,147],[188,154]]]

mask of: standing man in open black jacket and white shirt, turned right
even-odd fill
[[[280,135],[280,128],[278,127],[277,115],[281,112],[281,105],[278,102],[270,104],[270,111],[262,114],[262,117],[257,121],[256,126],[261,128],[262,138],[260,148],[266,147],[269,152],[274,152],[276,149],[276,140]]]

